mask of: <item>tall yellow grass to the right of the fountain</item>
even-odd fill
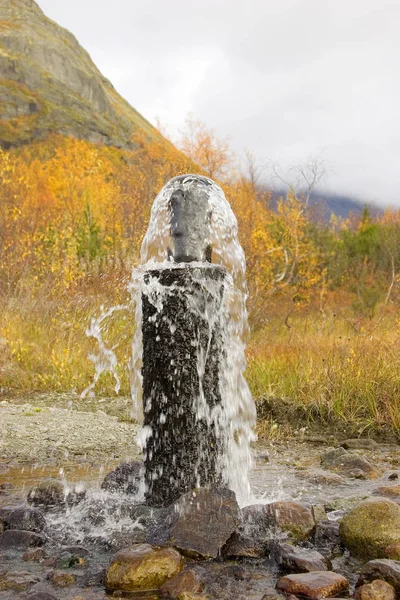
[[[247,378],[261,415],[400,436],[399,351],[394,317],[355,328],[348,319],[309,315],[290,330],[276,320],[251,340]]]

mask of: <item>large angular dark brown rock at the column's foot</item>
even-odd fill
[[[174,546],[192,558],[216,558],[240,522],[235,494],[200,488],[181,496],[146,542]]]

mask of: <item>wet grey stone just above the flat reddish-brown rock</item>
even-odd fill
[[[332,568],[330,561],[316,550],[306,550],[291,544],[278,544],[276,560],[279,568],[288,573],[329,571]]]

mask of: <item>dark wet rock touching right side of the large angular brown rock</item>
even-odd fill
[[[264,504],[246,506],[241,522],[222,548],[225,558],[259,558],[265,556],[277,537],[274,520]]]

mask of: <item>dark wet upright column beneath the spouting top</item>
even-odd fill
[[[149,270],[157,307],[142,296],[146,500],[167,506],[198,487],[221,483],[223,435],[220,306],[225,269],[177,265]],[[154,288],[156,289],[156,288]]]

